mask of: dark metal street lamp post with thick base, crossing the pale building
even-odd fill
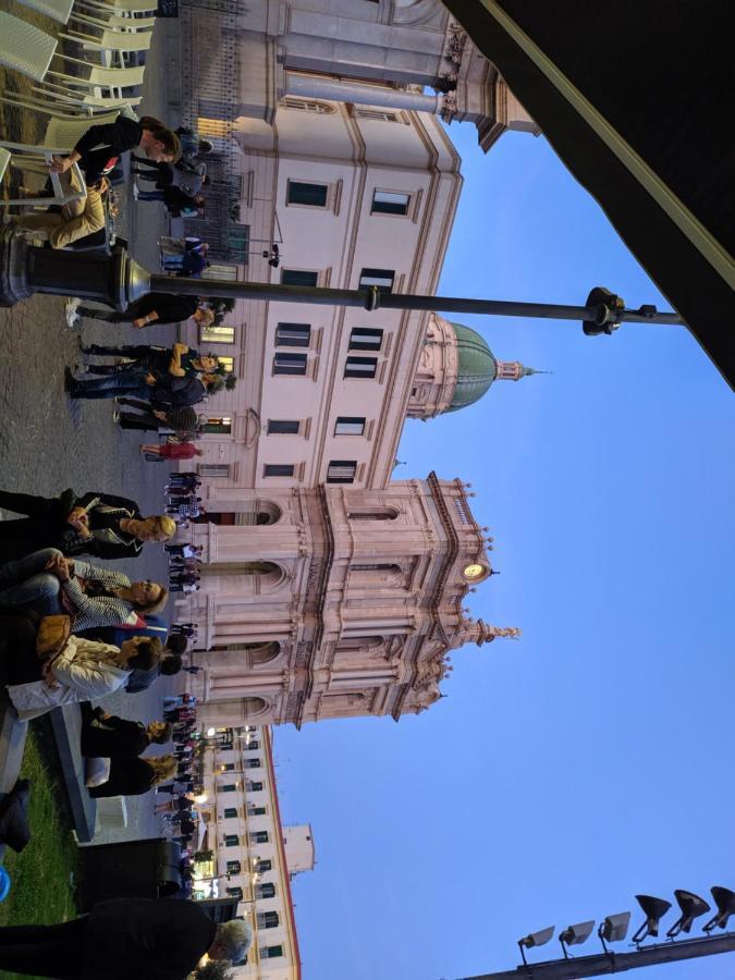
[[[580,320],[588,335],[612,333],[621,323],[684,326],[674,313],[659,313],[652,305],[626,309],[624,302],[601,286],[595,287],[584,306],[549,303],[516,303],[499,299],[469,299],[455,296],[425,296],[383,292],[377,286],[364,290],[293,286],[282,283],[206,280],[213,295],[234,299],[282,301],[321,306],[347,306],[376,309],[438,310],[440,313],[483,314],[552,320]],[[124,248],[111,256],[81,253],[70,258],[60,250],[34,244],[22,229],[7,225],[0,230],[0,305],[13,306],[34,293],[81,296],[97,299],[118,310],[150,292],[199,295],[201,280],[151,275],[132,259]]]

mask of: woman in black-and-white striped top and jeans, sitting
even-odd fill
[[[26,607],[42,616],[66,613],[76,632],[95,626],[136,626],[169,598],[156,581],[131,581],[120,572],[65,559],[44,548],[0,566],[0,605]]]

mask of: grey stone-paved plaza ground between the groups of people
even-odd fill
[[[160,38],[148,54],[140,114],[166,118],[164,36]],[[171,120],[174,126],[177,122]],[[21,120],[11,117],[13,132],[7,138],[19,138],[14,131],[21,124]],[[130,237],[134,257],[157,270],[158,237],[169,233],[168,218],[160,204],[135,205],[130,189],[130,185],[120,188],[120,232]],[[69,254],[69,261],[74,261],[73,253]],[[175,328],[137,331],[85,321],[81,332],[72,332],[66,329],[63,310],[64,298],[56,296],[35,296],[12,309],[0,308],[1,486],[46,495],[66,487],[78,493],[107,491],[138,501],[144,514],[160,513],[170,467],[166,463],[146,463],[138,451],[140,442],[156,441],[155,436],[119,429],[112,420],[112,401],[71,401],[64,391],[64,368],[73,367],[79,359],[82,341],[170,344],[176,339]],[[0,512],[0,517],[14,515]],[[131,578],[167,579],[166,552],[160,546],[147,546],[136,561],[113,564]],[[171,607],[169,615],[173,613]],[[105,708],[144,722],[160,719],[161,696],[179,687],[183,687],[179,678],[159,678],[148,691],[118,694],[107,699]],[[161,748],[169,750],[170,746]],[[161,823],[152,817],[152,793],[128,798],[127,830],[102,833],[95,843],[158,834]]]

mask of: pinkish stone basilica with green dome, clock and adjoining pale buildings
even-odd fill
[[[355,0],[340,17],[316,0],[240,7],[220,19],[217,58],[204,57],[211,16],[193,35],[184,115],[215,143],[209,172],[226,187],[226,211],[212,206],[208,224],[187,229],[218,243],[208,274],[434,293],[461,161],[446,113],[418,86],[482,89],[489,112],[492,66],[438,3]],[[225,56],[217,101],[207,73]],[[207,519],[188,531],[203,546],[201,588],[176,609],[198,625],[192,689],[205,724],[399,720],[439,699],[453,650],[517,635],[464,608],[493,571],[467,485],[393,475],[406,418],[430,424],[529,369],[415,310],[237,301],[222,324],[184,339],[238,377],[206,406]]]

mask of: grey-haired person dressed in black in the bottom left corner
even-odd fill
[[[59,980],[182,980],[205,955],[238,963],[253,930],[217,924],[196,902],[112,898],[56,926],[0,928],[0,972]]]

